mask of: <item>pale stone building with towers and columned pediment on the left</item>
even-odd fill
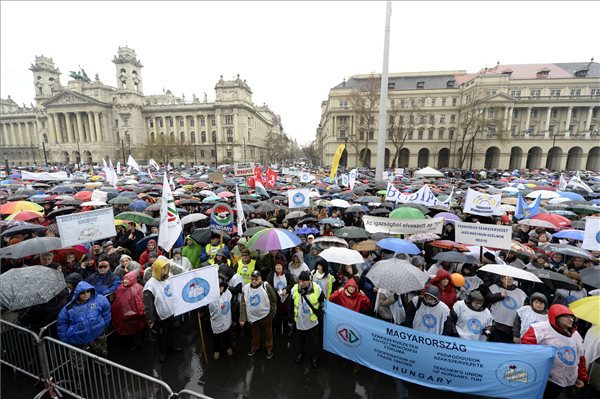
[[[116,87],[72,73],[63,86],[52,58],[36,56],[35,105],[1,100],[2,162],[101,163],[123,161],[131,153],[140,161],[221,163],[268,159],[269,142],[285,136],[281,118],[268,106],[252,102],[252,90],[239,75],[219,79],[215,101],[186,100],[169,90],[145,95],[143,65],[135,51],[119,47]]]

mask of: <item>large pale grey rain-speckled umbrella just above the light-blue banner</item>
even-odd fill
[[[378,288],[398,295],[423,289],[429,276],[410,262],[392,258],[379,261],[371,267],[367,278]]]

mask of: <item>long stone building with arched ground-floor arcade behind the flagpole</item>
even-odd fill
[[[600,64],[496,65],[390,74],[385,154],[377,154],[380,75],[352,76],[322,103],[314,150],[374,167],[599,170]],[[372,100],[372,101],[371,101]]]

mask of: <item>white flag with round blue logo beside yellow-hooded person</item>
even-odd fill
[[[219,299],[219,267],[201,267],[169,278],[171,308],[175,316]]]

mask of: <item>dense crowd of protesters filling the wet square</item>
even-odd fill
[[[221,171],[230,179],[226,180],[228,184],[207,181],[206,176],[198,177],[202,172],[195,170],[170,172],[178,176],[174,181],[177,187],[174,195],[180,215],[210,213],[215,200],[206,199],[211,194],[218,196],[229,192],[233,187],[232,170],[225,168]],[[66,282],[67,289],[51,301],[17,311],[17,322],[37,332],[56,320],[60,340],[100,356],[107,355],[106,333],[114,329],[117,335],[130,340],[132,350],[158,341],[160,361],[165,362],[169,353],[182,350],[177,345],[175,333],[178,319],[173,316],[166,301],[169,277],[207,265],[218,265],[220,298],[202,309],[210,319],[215,360],[239,351],[236,343],[241,331],[248,329],[251,335],[248,356],[256,356],[264,346],[264,356],[271,359],[274,356],[273,341],[280,337],[293,337],[295,363],[300,364],[306,358],[312,367],[319,367],[323,304],[331,301],[356,312],[433,334],[476,341],[568,348],[554,359],[545,397],[558,398],[563,391],[581,398],[598,397],[600,327],[577,319],[568,305],[600,294],[600,284],[596,281],[600,280],[599,273],[586,272],[600,267],[600,251],[581,249],[582,239],[561,238],[558,233],[565,230],[564,226],[552,228],[519,224],[514,210],[510,208],[494,217],[463,213],[464,196],[460,195],[460,190],[455,190],[449,209],[416,207],[424,217],[435,217],[441,212],[456,216],[445,218],[442,233],[419,241],[422,251],[418,255],[395,253],[378,247],[376,241],[372,241],[371,246],[367,245],[370,242],[368,238],[386,235],[353,239],[335,237],[343,226],[364,227],[364,215],[386,216],[398,205],[385,202],[385,195],[380,191],[381,182],[375,182],[368,172],[359,175],[354,190],[340,188],[322,179],[313,182],[308,187],[314,192],[314,205],[303,209],[301,216],[293,217],[290,215],[295,210],[285,206],[285,191],[294,185],[301,187],[306,184],[299,184],[292,178],[284,180],[284,177],[281,176],[276,186],[269,190],[270,198],[261,197],[251,187],[240,185],[246,208],[246,228],[258,231],[261,226],[273,226],[288,230],[301,239],[298,246],[258,251],[246,246],[250,234],[236,231],[224,237],[218,232],[211,232],[206,227],[207,220],[198,219],[184,225],[184,234],[173,250],[164,251],[157,244],[157,234],[160,233],[157,220],[148,224],[118,220],[116,236],[89,243],[84,249],[60,249],[24,259],[0,260],[2,273],[28,265],[42,265],[62,272]],[[479,180],[475,179],[477,177]],[[150,181],[144,174],[132,174],[124,177],[117,189],[112,189],[103,187],[102,179],[95,180],[93,182],[88,177],[79,184],[71,184],[73,191],[66,193],[75,197],[77,192],[99,189],[113,193],[113,198],[133,193],[127,198],[143,201],[145,212],[158,216],[159,208],[151,207],[157,204],[160,195],[158,182]],[[125,180],[128,184],[124,183]],[[583,207],[587,211],[577,212],[575,209],[575,212],[564,213],[569,228],[586,216],[600,213],[600,207],[594,212],[600,197],[600,177],[590,174],[587,181],[594,187],[592,193],[569,190],[589,201]],[[557,193],[556,197],[561,193],[558,190],[559,175],[549,171],[493,171],[483,174],[468,171],[463,175],[457,171],[446,171],[445,177],[425,182],[405,176],[397,176],[394,181],[403,192],[415,192],[423,184],[429,184],[437,194],[449,194],[451,188],[465,190],[467,187],[501,192],[500,188],[512,183],[529,184],[522,192],[544,186],[545,190]],[[15,184],[22,187],[12,187],[11,193],[8,190],[0,192],[0,203],[30,200],[39,204],[43,210],[28,222],[44,229],[21,229],[18,234],[5,234],[18,223],[2,221],[3,247],[35,237],[57,236],[59,232],[53,214],[111,206],[110,201],[106,205],[85,206],[84,203],[84,207],[78,209],[76,197],[71,201],[65,199],[64,194],[58,198],[57,192],[53,191],[56,187],[51,184],[24,182],[18,178],[13,179],[13,186]],[[30,192],[32,190],[34,192]],[[207,193],[207,190],[212,191]],[[506,191],[504,194],[503,198],[514,199],[514,192]],[[369,196],[369,200],[361,201],[363,196]],[[343,198],[348,201],[349,207],[331,206],[329,200],[334,198]],[[218,201],[229,202],[235,207],[233,196],[222,195]],[[128,204],[125,201],[112,205],[115,215],[131,210]],[[71,208],[73,205],[75,207]],[[542,209],[547,205],[548,201],[542,201]],[[560,209],[568,211],[567,205]],[[70,209],[65,211],[67,208]],[[513,243],[525,250],[481,249],[481,252],[475,252],[477,262],[436,261],[434,256],[440,251],[470,250],[468,246],[455,242],[455,220],[510,225]],[[580,224],[579,230],[582,228]],[[411,237],[403,238],[410,240]],[[574,254],[565,252],[566,255],[547,251],[544,250],[546,243],[565,244],[580,251]],[[331,246],[357,248],[363,262],[328,262],[319,254]],[[379,261],[390,258],[400,258],[428,273],[429,281],[422,289],[412,292],[380,289],[367,275],[378,266]],[[556,272],[570,284],[559,285],[556,281],[554,285],[533,284],[510,275],[479,272],[480,267],[486,264]]]

